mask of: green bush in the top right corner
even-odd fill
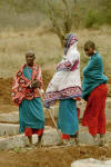
[[[90,0],[90,2],[92,0]],[[92,28],[94,24],[111,24],[111,1],[97,0],[95,3],[94,1],[89,3],[89,9],[84,17],[84,26]]]

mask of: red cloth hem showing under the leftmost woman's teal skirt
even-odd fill
[[[24,129],[24,135],[26,136],[32,136],[37,134],[38,136],[41,136],[43,134],[43,129],[31,129],[31,128],[26,128]]]

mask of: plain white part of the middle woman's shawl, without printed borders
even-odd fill
[[[67,56],[63,56],[63,59],[59,63],[65,63],[70,62],[71,67],[74,65],[75,61],[79,61],[77,68],[71,70],[60,70],[57,71],[50,81],[47,91],[60,91],[62,89],[69,88],[69,87],[81,87],[81,80],[80,80],[80,53],[77,49],[77,45],[72,45]]]

